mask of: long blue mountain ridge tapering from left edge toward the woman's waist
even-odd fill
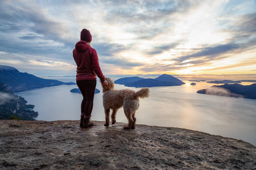
[[[43,79],[28,73],[20,73],[17,69],[10,66],[0,65],[0,82],[13,92],[27,91],[35,88],[43,88],[59,85],[72,85],[76,83],[64,83],[59,80]]]

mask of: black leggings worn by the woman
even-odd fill
[[[76,81],[76,84],[79,87],[83,97],[81,103],[81,114],[84,113],[86,117],[90,116],[92,113],[96,83],[96,79]]]

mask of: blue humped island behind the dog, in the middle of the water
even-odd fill
[[[121,78],[115,80],[116,84],[125,84],[127,87],[159,87],[159,86],[181,86],[185,84],[172,75],[163,74],[155,79],[144,79],[139,77]]]

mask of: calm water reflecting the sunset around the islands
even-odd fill
[[[75,82],[74,78],[59,80]],[[191,86],[192,82],[181,80],[186,84],[150,88],[150,97],[140,100],[137,124],[198,130],[242,139],[256,146],[256,100],[197,94],[197,90],[215,84],[195,82],[196,86]],[[243,83],[247,84],[251,83]],[[39,113],[37,120],[79,120],[82,96],[69,92],[72,88],[77,86],[47,87],[16,95],[35,105],[34,111]],[[100,82],[96,88],[102,91]],[[119,84],[115,88],[139,90]],[[105,121],[102,92],[94,96],[92,120]],[[117,122],[127,122],[122,108],[117,112]]]

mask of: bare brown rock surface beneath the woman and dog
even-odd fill
[[[255,169],[256,147],[179,128],[0,121],[0,169]]]

